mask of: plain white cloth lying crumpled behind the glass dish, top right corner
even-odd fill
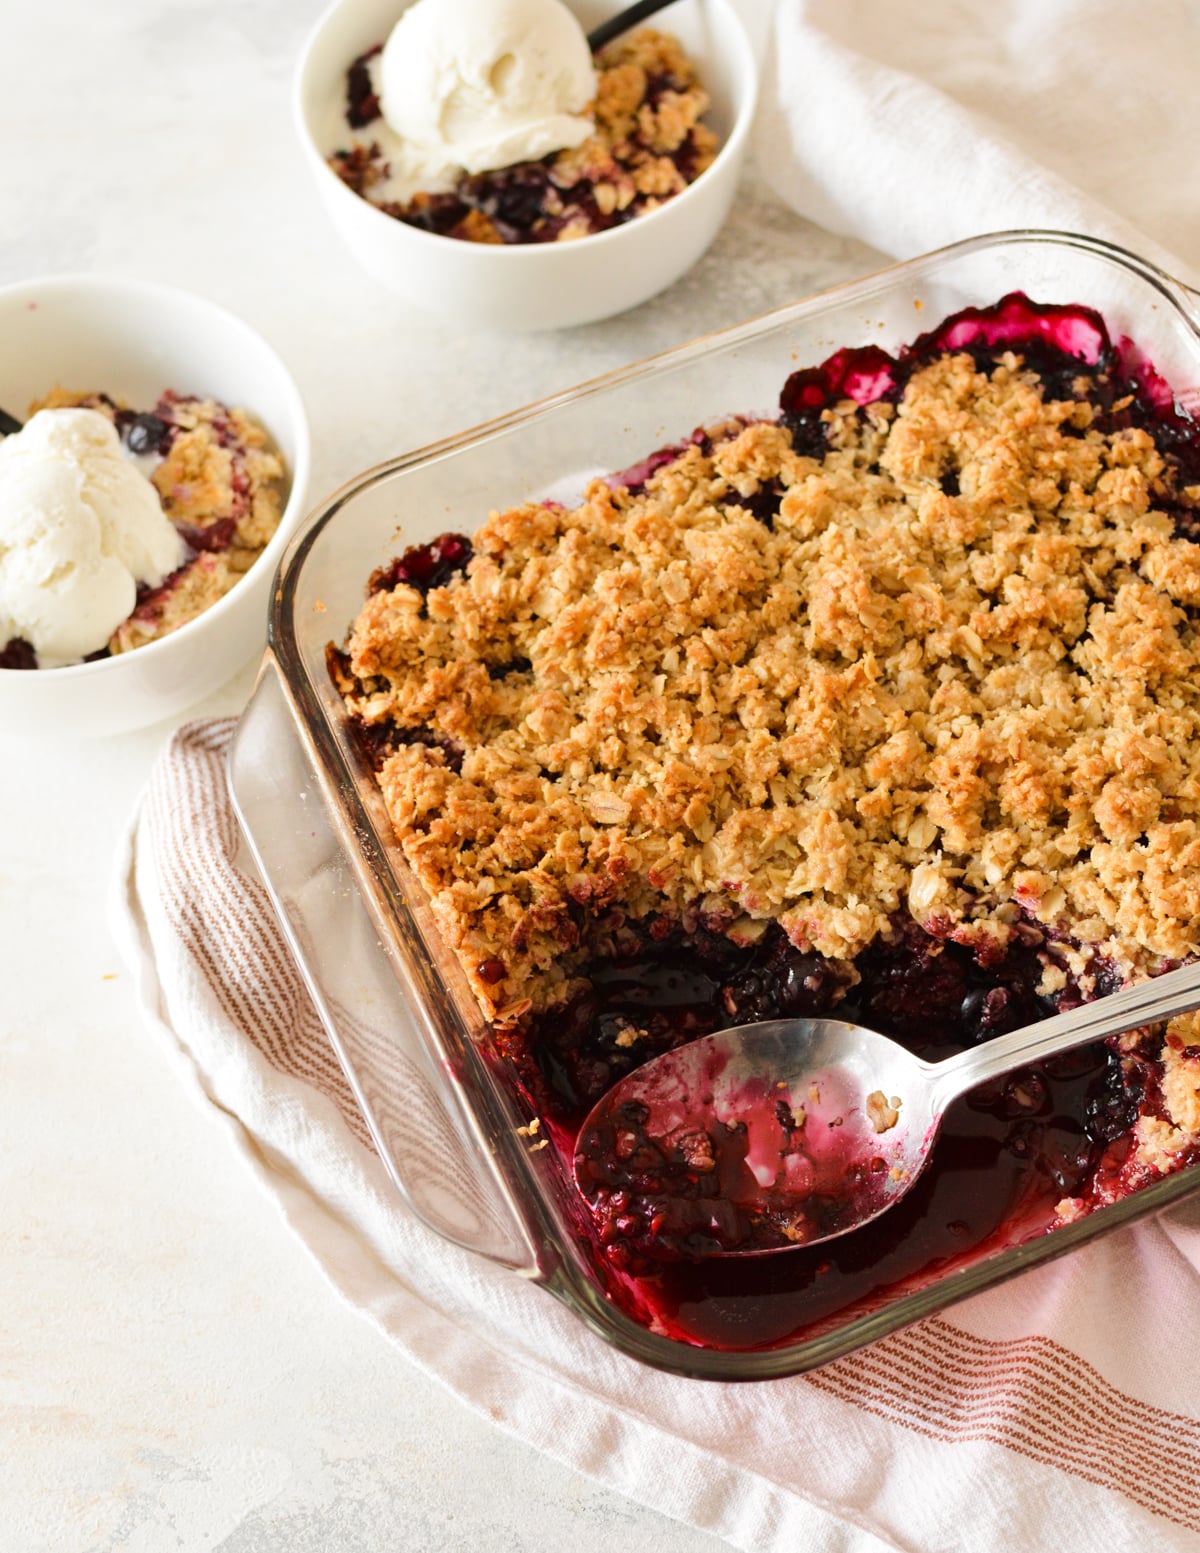
[[[1195,0],[776,0],[758,160],[896,258],[1011,227],[1200,270]]]

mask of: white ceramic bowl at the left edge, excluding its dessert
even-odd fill
[[[0,728],[123,733],[217,690],[265,640],[275,567],[304,511],[304,405],[272,348],[216,303],[143,281],[62,275],[0,289],[0,407],[23,418],[56,385],[149,408],[166,388],[248,410],[287,466],[278,533],[211,609],[144,648],[59,669],[0,669]]]

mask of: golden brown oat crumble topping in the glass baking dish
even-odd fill
[[[494,512],[467,576],[359,617],[352,710],[463,750],[380,786],[491,1014],[567,995],[610,907],[835,958],[896,912],[1003,944],[1018,909],[1130,974],[1197,952],[1197,548],[1150,436],[1012,356],[826,419],[823,461],[750,424]]]

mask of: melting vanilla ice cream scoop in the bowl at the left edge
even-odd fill
[[[39,410],[0,441],[0,643],[40,668],[78,663],[132,612],[186,545],[98,410]]]

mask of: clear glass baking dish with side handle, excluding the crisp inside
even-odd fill
[[[1197,294],[1113,245],[1014,231],[840,286],[461,436],[337,491],[284,558],[262,674],[234,739],[239,818],[376,1146],[433,1230],[531,1278],[627,1354],[682,1374],[768,1379],[826,1364],[1152,1213],[1200,1186],[1191,1166],[1025,1244],[876,1289],[782,1345],[727,1351],[640,1325],[605,1295],[577,1228],[570,1173],[536,1148],[529,1114],[491,1053],[483,1014],[432,924],[326,671],[366,578],[399,548],[472,533],[489,509],[577,500],[731,413],[773,415],[787,374],[840,346],[894,349],[964,306],[1020,289],[1084,303],[1200,402]],[[525,1131],[518,1131],[525,1129]],[[775,1258],[778,1261],[778,1258]],[[730,1266],[727,1263],[727,1266]]]

